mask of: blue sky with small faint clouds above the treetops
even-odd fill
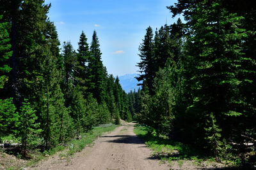
[[[102,61],[114,76],[136,73],[138,47],[150,25],[154,30],[177,18],[166,6],[175,0],[45,0],[51,3],[50,20],[57,27],[61,44],[70,41],[77,49],[82,31],[91,43],[93,30],[100,41]]]

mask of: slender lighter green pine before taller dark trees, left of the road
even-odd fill
[[[63,104],[63,94],[60,90],[61,72],[57,69],[58,59],[52,56],[47,47],[42,55],[44,60],[40,62],[40,76],[35,76],[37,83],[29,88],[33,88],[33,96],[37,96],[34,104],[40,116],[45,148],[49,149],[60,139],[63,115],[67,114],[67,108]],[[29,82],[27,84],[29,85]]]

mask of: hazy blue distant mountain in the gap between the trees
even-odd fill
[[[136,80],[136,77],[138,74],[125,74],[124,76],[119,76],[120,85],[125,90],[125,92],[129,93],[131,90],[134,89],[137,90],[139,87],[137,86],[138,81]]]

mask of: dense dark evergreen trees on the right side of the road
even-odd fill
[[[179,0],[172,25],[140,45],[140,111],[149,132],[201,148],[216,161],[256,143],[256,9],[252,1]],[[248,156],[248,155],[247,155]]]

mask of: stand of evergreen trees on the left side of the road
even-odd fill
[[[97,125],[132,120],[134,93],[108,74],[96,31],[90,44],[81,31],[75,50],[70,41],[60,46],[47,16],[51,4],[1,0],[0,7],[0,140],[18,139],[25,156]]]

